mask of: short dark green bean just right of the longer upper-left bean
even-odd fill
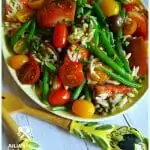
[[[29,35],[27,37],[27,41],[30,42],[35,34],[36,22],[32,20],[31,25],[29,26]]]

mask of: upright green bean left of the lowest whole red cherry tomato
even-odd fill
[[[47,103],[49,93],[49,72],[47,66],[43,66],[43,79],[42,79],[42,101]]]

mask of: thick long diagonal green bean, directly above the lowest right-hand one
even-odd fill
[[[100,50],[98,47],[91,45],[90,43],[87,44],[89,51],[97,56],[100,60],[104,61],[107,65],[109,65],[112,69],[114,69],[117,73],[119,73],[122,77],[132,80],[132,76],[125,72],[117,63],[115,63],[107,54]]]

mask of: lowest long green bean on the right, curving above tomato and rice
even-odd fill
[[[122,84],[125,84],[127,86],[130,86],[130,87],[134,87],[134,88],[141,88],[142,85],[141,84],[138,84],[134,81],[130,81],[130,80],[127,80],[127,79],[124,79],[122,78],[121,76],[113,73],[110,69],[107,69],[103,66],[100,66],[99,67],[101,70],[103,70],[106,74],[108,74],[109,76],[111,76],[112,78],[114,78],[115,80],[117,80],[118,82],[122,83]]]

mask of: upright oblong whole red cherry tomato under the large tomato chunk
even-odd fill
[[[56,48],[65,48],[67,43],[68,29],[65,23],[56,25],[53,33],[53,45]]]

